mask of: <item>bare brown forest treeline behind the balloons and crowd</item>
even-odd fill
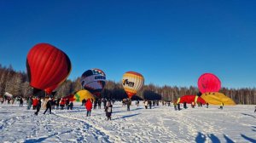
[[[68,94],[74,94],[82,89],[79,77],[75,80],[67,80],[56,89],[56,97],[63,97]],[[14,96],[27,97],[32,95],[32,88],[28,83],[26,72],[15,72],[12,66],[5,67],[0,65],[0,95],[5,92]],[[224,93],[237,104],[256,104],[256,89],[228,89],[222,88],[219,92]],[[144,85],[143,89],[133,96],[133,100],[177,100],[178,97],[185,94],[197,94],[196,87],[177,87],[177,86],[157,86],[153,83]],[[108,99],[122,100],[127,98],[121,82],[108,81],[105,89],[102,91],[102,97]]]

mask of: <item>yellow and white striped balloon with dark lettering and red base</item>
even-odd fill
[[[132,95],[136,94],[138,90],[142,89],[144,77],[137,72],[125,72],[122,81],[125,92],[131,99]]]

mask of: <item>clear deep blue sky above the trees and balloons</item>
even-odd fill
[[[0,0],[0,63],[26,71],[26,54],[51,43],[72,61],[70,79],[100,68],[119,81],[140,72],[157,85],[256,87],[254,0]]]

